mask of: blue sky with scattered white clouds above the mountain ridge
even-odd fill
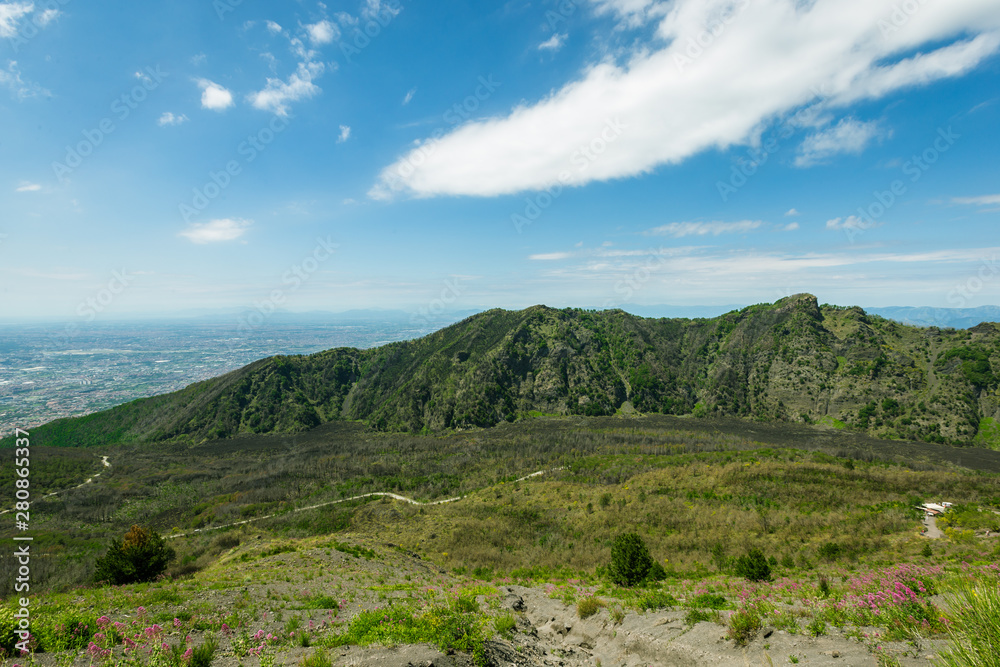
[[[0,2],[0,305],[1000,302],[1000,0]]]

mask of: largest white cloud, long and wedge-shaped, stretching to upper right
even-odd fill
[[[495,196],[636,176],[755,143],[803,108],[832,116],[961,76],[1000,50],[997,0],[924,3],[886,34],[879,22],[898,0],[755,0],[740,3],[700,54],[693,40],[727,0],[594,1],[623,20],[669,13],[656,39],[638,42],[622,64],[599,62],[543,99],[457,127],[433,151],[411,148],[383,169],[371,196]],[[622,127],[613,142],[602,141],[609,122]],[[581,158],[591,143],[600,154]]]

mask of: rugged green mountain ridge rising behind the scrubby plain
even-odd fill
[[[534,306],[371,350],[275,357],[63,419],[33,444],[201,441],[362,420],[491,426],[531,413],[736,415],[1000,446],[1000,328],[919,329],[800,294],[713,319]]]

